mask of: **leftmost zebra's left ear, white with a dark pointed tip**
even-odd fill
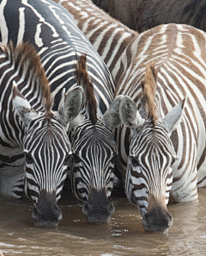
[[[31,105],[27,102],[27,99],[22,96],[21,92],[18,90],[15,81],[13,82],[13,95],[12,101],[14,109],[16,109],[17,114],[21,116],[21,120],[27,125],[32,121],[34,116],[38,113],[32,109]]]

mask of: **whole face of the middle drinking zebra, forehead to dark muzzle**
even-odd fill
[[[71,139],[73,157],[72,189],[84,203],[88,222],[109,222],[114,212],[108,201],[113,186],[113,169],[117,155],[111,131],[102,122],[84,121]]]

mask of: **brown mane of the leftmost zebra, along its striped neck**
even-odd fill
[[[20,78],[26,83],[34,84],[33,95],[36,91],[41,93],[44,100],[44,108],[49,111],[52,107],[51,90],[49,82],[45,77],[45,70],[41,66],[40,58],[34,47],[29,43],[21,42],[16,47],[12,41],[8,46],[0,45],[0,53],[5,53],[11,64],[15,66]],[[21,85],[19,86],[21,88]]]

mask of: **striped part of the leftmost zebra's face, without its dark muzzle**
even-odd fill
[[[41,190],[49,194],[56,191],[57,201],[60,199],[71,149],[67,130],[59,124],[57,117],[45,120],[43,116],[33,125],[37,126],[37,123],[43,123],[44,127],[27,133],[23,144],[26,159],[24,187],[34,205],[38,203]]]

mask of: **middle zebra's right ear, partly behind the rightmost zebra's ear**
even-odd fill
[[[118,105],[123,97],[124,96],[122,95],[119,95],[118,97],[116,97],[112,101],[109,109],[106,110],[106,113],[104,114],[104,116],[102,116],[102,122],[111,131],[112,129],[117,128],[121,124],[121,120],[119,118],[119,113],[118,113]]]

